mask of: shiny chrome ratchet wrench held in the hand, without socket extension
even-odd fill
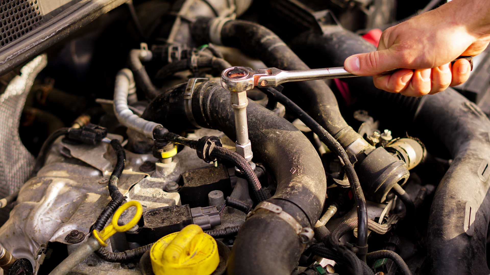
[[[473,69],[472,56],[460,56],[458,59],[466,59]],[[392,69],[380,73],[386,75],[399,69]],[[247,67],[231,67],[221,73],[221,86],[230,92],[243,92],[257,87],[277,87],[286,82],[318,80],[329,78],[344,78],[359,76],[352,74],[344,67],[324,68],[324,69],[305,69],[305,70],[281,70],[277,68],[265,68],[253,70]]]

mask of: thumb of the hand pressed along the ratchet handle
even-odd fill
[[[343,66],[356,75],[376,75],[390,69],[403,68],[390,49],[351,55],[345,59]]]

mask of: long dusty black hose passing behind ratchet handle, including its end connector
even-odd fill
[[[222,18],[197,18],[191,25],[196,41],[238,47],[259,57],[267,66],[283,70],[310,69],[276,34],[256,23]],[[343,119],[332,90],[322,80],[284,85],[283,93],[313,117],[354,155],[354,166],[370,200],[382,202],[395,183],[403,185],[410,173],[402,160],[384,148],[374,148]]]

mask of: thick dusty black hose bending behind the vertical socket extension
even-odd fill
[[[184,95],[187,86],[183,84],[157,96],[142,117],[162,123],[173,132],[205,127],[235,138],[230,92],[216,82],[205,81],[197,82],[191,94]],[[301,227],[313,228],[326,192],[325,172],[318,153],[293,124],[252,100],[247,114],[254,156],[270,166],[277,181],[277,191],[267,202],[281,206]],[[228,274],[289,275],[303,249],[304,244],[289,223],[260,208],[238,232]]]

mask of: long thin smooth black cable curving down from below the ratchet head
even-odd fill
[[[301,108],[299,108],[291,99],[286,97],[284,94],[278,92],[273,88],[260,88],[262,92],[267,95],[274,97],[275,100],[284,105],[288,110],[293,112],[298,116],[306,126],[308,126],[315,134],[319,136],[321,141],[323,141],[331,150],[337,154],[344,163],[344,171],[347,174],[347,178],[350,183],[352,193],[357,203],[357,217],[359,219],[358,226],[358,237],[357,246],[363,248],[367,251],[368,246],[368,212],[366,209],[366,199],[364,198],[364,193],[361,188],[361,183],[357,178],[356,171],[352,163],[350,163],[347,153],[343,149],[342,145],[330,135],[323,127],[321,127],[318,122],[316,122],[311,116],[306,114]],[[359,257],[365,261],[364,255],[359,254]]]

